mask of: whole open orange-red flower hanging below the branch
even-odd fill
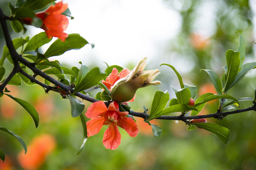
[[[103,136],[103,145],[107,149],[114,150],[121,143],[121,135],[118,127],[122,127],[129,134],[135,137],[138,134],[138,127],[132,118],[125,117],[127,111],[119,111],[118,102],[111,102],[109,107],[103,101],[94,102],[85,113],[87,118],[90,118],[87,125],[87,136],[93,136],[101,130],[103,125],[109,127]]]

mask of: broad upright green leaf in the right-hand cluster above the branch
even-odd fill
[[[233,50],[228,50],[226,52],[226,59],[227,59],[227,66],[228,70],[225,74],[225,87],[224,87],[224,93],[226,93],[229,88],[229,86],[234,82],[237,74],[238,74],[238,68],[240,64],[240,54],[239,52],[235,52]]]

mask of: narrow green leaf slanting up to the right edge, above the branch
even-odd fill
[[[245,75],[247,75],[247,73],[249,73],[254,68],[256,68],[256,62],[246,63],[245,65],[243,65],[242,69],[238,72],[235,80],[227,88],[227,90],[229,90],[232,86],[236,85],[240,80],[242,80],[245,77]]]

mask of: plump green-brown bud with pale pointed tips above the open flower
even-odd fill
[[[125,77],[119,79],[111,89],[111,97],[118,102],[131,100],[140,87],[160,85],[160,81],[153,81],[160,74],[158,69],[146,70],[146,58],[140,60],[137,66]]]

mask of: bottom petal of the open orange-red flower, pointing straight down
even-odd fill
[[[107,149],[116,149],[121,143],[121,135],[118,130],[118,127],[110,126],[109,128],[107,128],[107,130],[104,133],[102,142]]]

